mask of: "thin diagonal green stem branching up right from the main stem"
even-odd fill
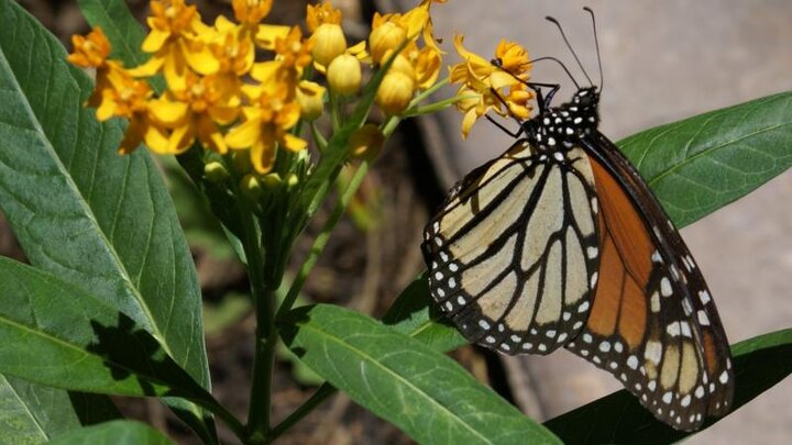
[[[324,222],[324,226],[314,241],[314,245],[308,253],[308,257],[302,263],[302,266],[297,272],[297,276],[292,283],[292,287],[289,288],[286,298],[284,298],[284,301],[278,309],[276,319],[280,319],[289,309],[292,309],[292,305],[297,299],[299,291],[302,289],[302,285],[305,285],[308,275],[310,274],[311,269],[314,269],[314,266],[316,265],[319,255],[322,253],[322,251],[324,251],[324,246],[330,240],[330,234],[332,233],[332,230],[336,227],[336,224],[341,219],[341,215],[343,215],[344,210],[346,210],[346,205],[349,205],[349,202],[354,197],[366,173],[369,173],[369,162],[364,160],[360,165],[360,167],[358,167],[358,170],[352,177],[352,180],[350,180],[350,183],[346,186],[346,189],[343,191],[341,198],[336,204],[332,214],[330,214],[330,218],[328,218],[328,220]]]

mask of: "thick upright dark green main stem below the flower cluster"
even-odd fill
[[[244,205],[244,204],[241,204]],[[261,230],[250,208],[242,210],[244,251],[248,258],[248,278],[256,310],[255,355],[253,382],[248,411],[248,433],[251,442],[265,441],[270,429],[272,368],[277,343],[275,331],[275,294],[273,283],[264,276],[264,252]]]

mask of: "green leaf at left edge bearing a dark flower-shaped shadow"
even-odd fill
[[[102,299],[0,257],[0,372],[68,390],[213,399]]]

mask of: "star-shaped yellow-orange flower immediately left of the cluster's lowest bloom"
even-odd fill
[[[184,153],[196,138],[212,152],[228,152],[219,125],[229,125],[237,119],[239,100],[221,94],[216,80],[191,74],[185,90],[169,91],[165,98],[152,101],[151,115],[169,130],[167,145],[158,147],[158,152]]]

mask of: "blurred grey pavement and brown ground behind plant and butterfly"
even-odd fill
[[[24,0],[21,3],[62,38],[87,32],[74,1]],[[128,1],[140,18],[147,1]],[[230,15],[230,0],[194,1],[205,22]],[[301,23],[307,1],[275,0],[270,22]],[[350,42],[367,33],[374,11],[404,11],[417,0],[333,0],[344,12]],[[451,0],[433,8],[436,35],[458,62],[453,35],[465,46],[493,54],[501,38],[519,42],[532,57],[556,56],[582,79],[556,27],[564,26],[588,74],[596,80],[596,53],[588,15],[597,18],[605,93],[601,130],[618,141],[640,130],[704,111],[792,89],[792,2],[785,0]],[[537,64],[537,81],[561,81],[557,99],[571,94],[565,75],[552,64]],[[452,88],[441,91],[443,97]],[[465,173],[510,145],[512,138],[486,121],[470,137],[460,136],[461,115],[449,110],[405,122],[364,183],[350,218],[333,235],[301,298],[334,302],[381,315],[398,292],[424,269],[418,244],[422,226],[446,190]],[[216,396],[238,414],[246,411],[252,361],[251,307],[243,269],[222,234],[207,216],[190,185],[163,162],[179,215],[196,257],[206,299],[206,329]],[[792,325],[792,173],[684,229],[717,301],[732,343]],[[321,222],[320,214],[318,221]],[[316,232],[316,227],[312,229]],[[310,235],[310,231],[309,231]],[[305,252],[308,240],[298,249]],[[297,252],[296,259],[301,252]],[[0,254],[24,258],[0,214]],[[296,263],[298,265],[299,263]],[[543,420],[619,388],[609,375],[561,351],[547,357],[506,358],[474,347],[453,354],[528,414]],[[288,414],[316,388],[316,376],[284,351],[276,368],[275,421]],[[792,441],[792,381],[784,380],[727,421],[689,443],[788,444]],[[197,443],[155,401],[119,399],[129,415],[154,423],[180,443]],[[226,443],[234,443],[230,435]],[[396,429],[366,413],[343,396],[324,403],[296,427],[284,444],[411,443]]]

